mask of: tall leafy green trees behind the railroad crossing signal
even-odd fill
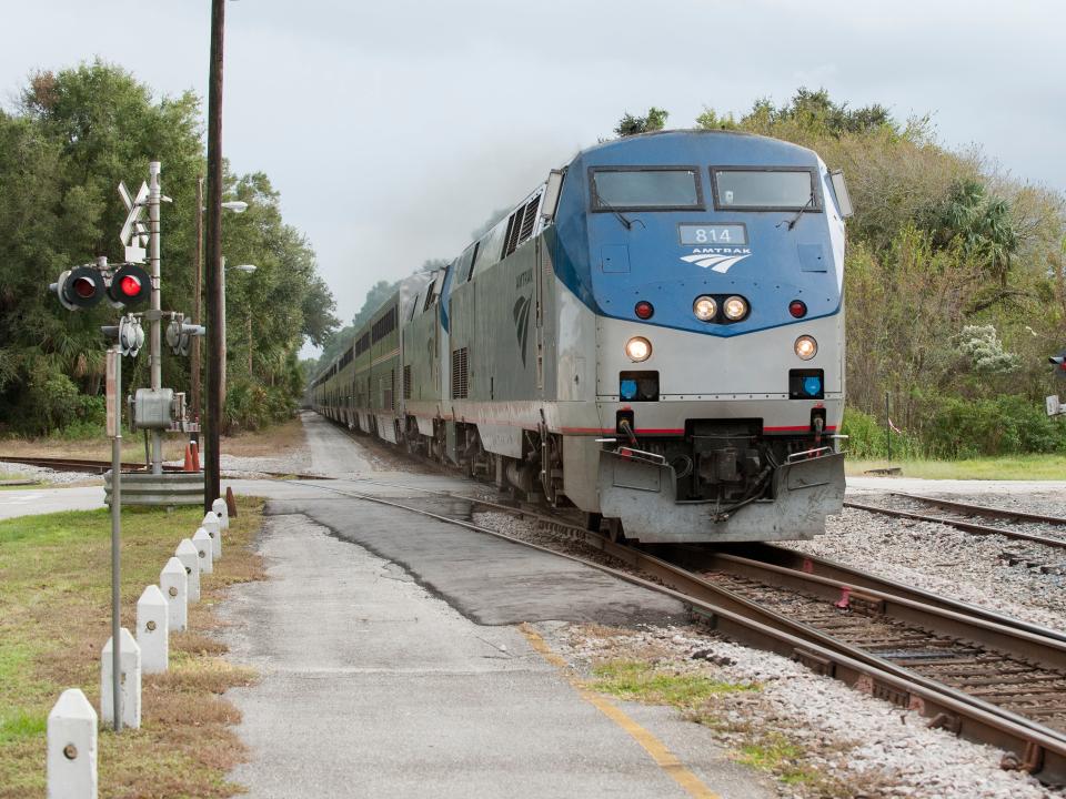
[[[99,421],[100,325],[112,324],[118,313],[107,303],[70,313],[47,286],[61,270],[93,256],[122,261],[118,232],[125,209],[115,186],[121,180],[135,190],[149,161],[162,162],[163,190],[173,200],[163,206],[163,306],[191,312],[203,149],[193,93],[155,98],[132,74],[100,60],[33,75],[18,107],[0,111],[0,424],[48,433]],[[309,244],[282,221],[265,175],[228,174],[225,189],[251,204],[248,213],[227,218],[225,252],[231,263],[260,266],[254,281],[231,281],[229,347],[245,357],[231,358],[230,372],[249,371],[251,322],[252,380],[272,393],[270,402],[249,407],[268,419],[293,406],[301,391],[299,378],[293,388],[295,352],[304,337],[323,341],[335,326],[333,301]],[[123,372],[128,385],[142,385],[148,358]],[[164,357],[164,384],[182,391],[189,378],[187,360]]]

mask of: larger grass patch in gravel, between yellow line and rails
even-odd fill
[[[609,660],[593,667],[593,690],[620,699],[695,708],[712,697],[757,690],[754,686],[718,682],[698,674],[656,669],[643,660]]]

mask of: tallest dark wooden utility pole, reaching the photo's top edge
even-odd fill
[[[221,461],[219,427],[222,424],[221,387],[222,315],[222,41],[225,24],[225,0],[211,0],[211,63],[208,78],[208,408],[207,459],[203,468],[203,507],[219,498]]]

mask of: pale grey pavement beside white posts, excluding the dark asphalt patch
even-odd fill
[[[260,548],[271,579],[223,608],[231,657],[263,672],[228,694],[253,757],[230,777],[250,796],[687,796],[515,628],[474,624],[299,515],[268,519]],[[776,795],[707,730],[658,716],[643,720],[712,790]]]

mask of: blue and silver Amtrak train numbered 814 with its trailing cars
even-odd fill
[[[318,375],[313,407],[646,543],[838,513],[843,175],[668,131],[581,152]]]

